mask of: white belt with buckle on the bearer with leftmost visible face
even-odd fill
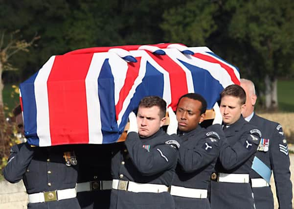
[[[159,193],[168,191],[168,187],[165,185],[156,184],[140,184],[131,181],[123,181],[113,179],[113,189],[132,191],[132,192],[153,192]]]

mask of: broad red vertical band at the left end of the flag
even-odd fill
[[[56,56],[48,77],[51,144],[88,143],[85,79],[93,54]]]

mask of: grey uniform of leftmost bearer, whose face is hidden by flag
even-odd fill
[[[30,147],[27,143],[14,145],[3,170],[10,183],[23,179],[28,194],[75,188],[78,166],[66,165],[64,152],[73,150],[72,145]],[[77,159],[77,162],[79,160]],[[76,198],[45,203],[29,203],[31,209],[80,209]]]

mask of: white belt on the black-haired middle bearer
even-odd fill
[[[170,194],[180,197],[207,198],[207,189],[186,188],[182,186],[171,186]]]

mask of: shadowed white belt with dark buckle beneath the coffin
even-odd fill
[[[113,181],[90,181],[77,184],[77,192],[112,189]]]

